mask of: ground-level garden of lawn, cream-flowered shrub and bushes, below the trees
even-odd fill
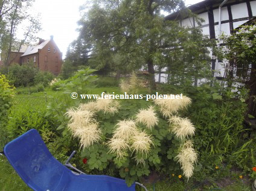
[[[72,99],[74,91],[153,94],[135,72],[120,83],[94,72],[80,69],[67,80],[43,75],[39,85],[16,89],[1,75],[1,148],[35,128],[62,163],[77,151],[71,163],[86,174],[141,181],[149,190],[250,189],[256,172],[255,132],[244,124],[248,90],[216,81],[159,84],[159,94],[183,99]],[[3,156],[1,171],[2,190],[29,190]]]

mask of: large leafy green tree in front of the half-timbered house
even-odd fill
[[[190,49],[190,54],[186,55],[187,60],[200,57],[197,59],[199,63],[197,67],[200,65],[199,60],[206,57],[206,45],[202,46],[204,37],[199,29],[182,28],[178,22],[165,20],[164,15],[161,14],[162,11],[173,13],[182,8],[184,8],[182,0],[94,2],[92,8],[78,22],[80,35],[72,47],[80,58],[84,55],[80,51],[87,50],[86,56],[92,58],[89,64],[97,69],[105,66],[116,70],[144,66],[150,75],[150,87],[154,90],[156,66],[173,69],[176,66],[187,67],[180,62],[171,63],[172,59],[181,59],[181,55],[187,54],[182,51],[184,48]],[[193,54],[193,46],[197,48],[196,55]],[[115,61],[117,55],[120,56],[121,61]],[[192,67],[193,64],[187,65]],[[193,67],[196,71],[195,66]],[[185,69],[182,71],[185,72]]]

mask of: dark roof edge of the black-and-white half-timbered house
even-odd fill
[[[219,7],[219,5],[222,2],[223,0],[205,0],[205,1],[198,2],[197,4],[194,4],[194,5],[190,5],[187,8],[190,9],[193,13],[195,13],[203,10],[208,10],[210,9],[210,7]],[[233,1],[229,0],[228,2],[226,2],[226,4],[228,4],[229,2],[234,2],[234,0]],[[181,14],[181,11],[176,11],[166,16],[165,20],[181,19],[182,16],[184,17],[184,13]]]

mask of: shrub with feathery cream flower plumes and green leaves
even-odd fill
[[[70,108],[68,128],[80,141],[82,158],[88,159],[84,170],[118,171],[128,185],[160,168],[169,175],[182,169],[190,178],[197,161],[190,140],[195,128],[178,116],[190,104],[184,96],[150,102],[97,99]]]

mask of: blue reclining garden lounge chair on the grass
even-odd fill
[[[5,145],[4,154],[22,180],[33,190],[135,191],[136,183],[128,187],[119,178],[77,174],[69,170],[51,155],[34,129]]]

